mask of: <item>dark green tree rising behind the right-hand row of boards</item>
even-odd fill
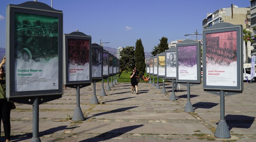
[[[151,51],[151,54],[153,56],[158,55],[159,53],[165,52],[165,50],[169,49],[168,47],[168,39],[166,37],[162,37],[160,40],[160,43],[158,46],[154,46],[153,51]]]

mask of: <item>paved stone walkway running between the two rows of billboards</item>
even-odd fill
[[[117,83],[100,104],[92,105],[93,85],[80,89],[80,107],[85,121],[72,121],[76,108],[76,89],[66,88],[62,98],[39,105],[39,136],[42,142],[255,142],[256,83],[244,83],[243,94],[225,97],[225,120],[231,138],[217,139],[220,97],[204,92],[201,85],[190,87],[194,113],[184,112],[187,87],[175,92],[170,101],[171,82],[165,82],[167,94],[152,84],[139,83],[139,94],[131,93],[130,83]],[[106,83],[104,83],[106,88]],[[31,142],[32,105],[17,104],[11,111],[11,142]],[[1,136],[3,136],[1,124]],[[4,139],[0,139],[0,142]]]

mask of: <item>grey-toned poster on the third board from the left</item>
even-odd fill
[[[92,44],[92,79],[102,78],[102,50],[103,48]]]

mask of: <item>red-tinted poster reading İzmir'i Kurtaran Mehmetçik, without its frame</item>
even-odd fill
[[[236,31],[206,34],[206,85],[238,86]]]

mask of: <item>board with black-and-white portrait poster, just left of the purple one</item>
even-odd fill
[[[172,50],[165,50],[165,78],[176,79],[176,48]]]

